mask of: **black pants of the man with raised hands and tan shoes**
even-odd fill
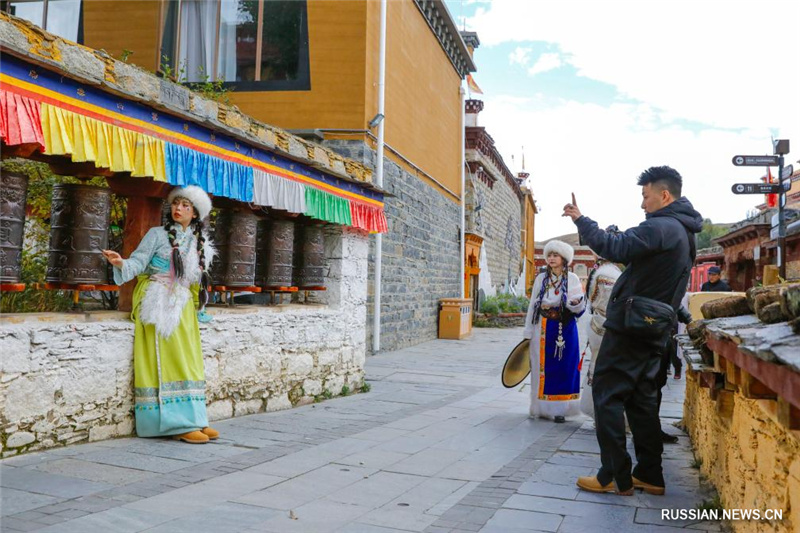
[[[611,330],[603,336],[592,382],[602,463],[597,479],[603,485],[613,480],[618,490],[628,490],[633,485],[633,475],[646,483],[664,486],[657,378],[665,349],[665,343],[631,339]],[[633,471],[626,449],[623,413],[633,433]]]

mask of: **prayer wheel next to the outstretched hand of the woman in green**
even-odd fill
[[[111,190],[63,183],[53,187],[50,204],[50,254],[45,280],[51,283],[105,284]]]

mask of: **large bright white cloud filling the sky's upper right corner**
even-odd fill
[[[504,42],[545,41],[581,76],[675,116],[774,128],[800,122],[793,20],[800,2],[786,0],[499,0],[467,26],[484,54]]]

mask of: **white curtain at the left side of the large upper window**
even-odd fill
[[[214,45],[217,36],[217,0],[181,2],[180,61],[186,81],[214,78]]]

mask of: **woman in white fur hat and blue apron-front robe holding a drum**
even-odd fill
[[[580,413],[580,341],[577,317],[586,300],[569,272],[574,251],[562,241],[545,245],[547,270],[533,283],[524,337],[531,339],[531,416],[564,422]]]

